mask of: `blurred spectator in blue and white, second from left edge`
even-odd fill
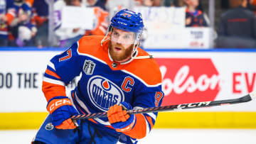
[[[33,46],[32,38],[36,35],[36,25],[31,22],[32,9],[24,0],[14,0],[16,18],[11,23],[11,34],[14,36],[12,46]]]

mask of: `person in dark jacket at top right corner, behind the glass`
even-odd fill
[[[235,0],[238,6],[222,14],[217,48],[256,48],[255,14],[246,9],[247,0]]]

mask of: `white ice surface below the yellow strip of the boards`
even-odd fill
[[[29,144],[36,130],[0,131],[1,144]],[[153,129],[141,144],[255,144],[256,129]]]

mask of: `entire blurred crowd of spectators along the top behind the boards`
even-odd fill
[[[0,0],[0,46],[49,46],[48,2],[54,3],[54,46],[58,48],[70,46],[83,35],[105,35],[109,18],[120,9],[132,9],[132,6],[186,6],[186,27],[210,26],[201,0]],[[229,0],[229,4],[233,9],[223,13],[220,18],[217,47],[240,47],[226,45],[226,40],[230,43],[230,40],[240,37],[245,40],[241,40],[241,43],[249,43],[247,38],[251,39],[250,45],[245,47],[254,47],[256,0]],[[64,6],[93,7],[97,17],[94,28],[63,28],[61,11]]]

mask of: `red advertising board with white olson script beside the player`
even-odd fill
[[[156,58],[163,74],[162,106],[213,101],[220,91],[218,70],[210,58]]]

